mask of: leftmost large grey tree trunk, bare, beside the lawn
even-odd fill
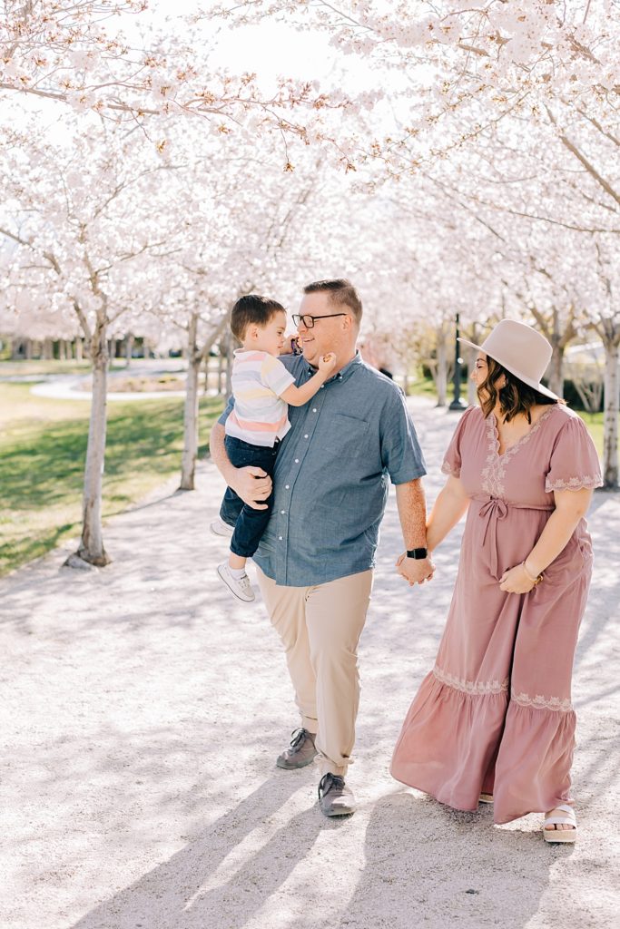
[[[101,528],[101,488],[105,462],[106,406],[108,384],[108,342],[106,321],[99,319],[90,343],[93,366],[93,393],[88,427],[82,539],[77,554],[91,565],[107,565],[110,558],[103,547]]]

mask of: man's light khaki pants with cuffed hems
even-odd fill
[[[313,587],[281,587],[257,568],[270,620],[282,639],[301,725],[315,733],[322,774],[345,775],[360,702],[357,646],[372,570]]]

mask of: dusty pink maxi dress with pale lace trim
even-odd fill
[[[592,570],[582,519],[529,594],[499,589],[530,554],[553,491],[600,487],[586,425],[563,404],[499,454],[495,415],[470,407],[442,471],[470,498],[455,591],[433,670],[402,725],[391,773],[456,809],[494,794],[496,823],[570,801],[571,676]]]

